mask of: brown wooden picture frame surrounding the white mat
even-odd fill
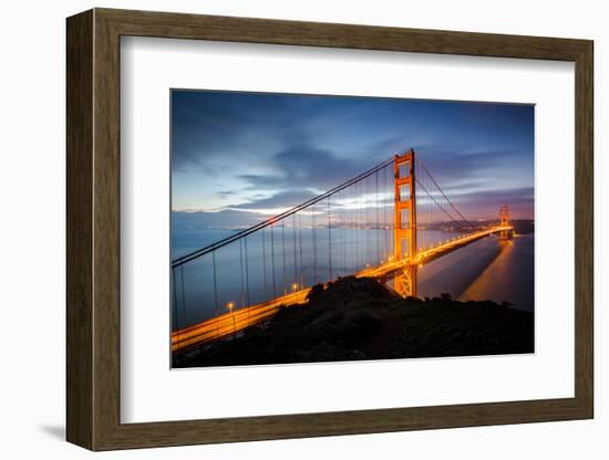
[[[68,19],[66,438],[91,450],[592,418],[592,42],[94,9]],[[121,424],[120,38],[575,62],[575,397]]]

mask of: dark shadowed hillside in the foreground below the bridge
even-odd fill
[[[533,314],[448,295],[402,299],[372,279],[313,288],[235,338],[207,345],[177,367],[393,359],[534,352]]]

